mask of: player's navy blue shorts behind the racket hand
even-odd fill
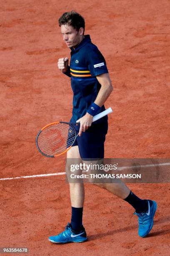
[[[74,125],[78,133],[80,125]],[[81,136],[77,136],[72,146],[78,146],[82,159],[104,158],[104,142],[108,123],[92,124]]]

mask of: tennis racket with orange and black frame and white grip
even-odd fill
[[[95,115],[92,122],[112,113],[112,109]],[[75,142],[78,134],[73,125],[78,123],[54,122],[45,125],[37,134],[36,146],[43,156],[55,157],[67,152]]]

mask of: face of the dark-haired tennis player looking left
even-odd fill
[[[81,28],[79,31],[77,31],[72,26],[68,26],[67,24],[65,24],[61,25],[61,33],[67,47],[71,48],[76,47],[78,44],[80,44],[83,31]]]

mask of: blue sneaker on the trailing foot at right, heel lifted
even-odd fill
[[[140,237],[145,237],[149,234],[150,230],[153,227],[153,217],[155,215],[157,209],[157,203],[152,200],[148,200],[148,211],[137,213],[134,212],[135,215],[138,216],[139,221],[139,229],[138,234]]]

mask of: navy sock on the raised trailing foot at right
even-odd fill
[[[148,211],[148,201],[140,199],[135,194],[133,194],[132,191],[130,191],[130,194],[124,200],[132,205],[138,213]]]

